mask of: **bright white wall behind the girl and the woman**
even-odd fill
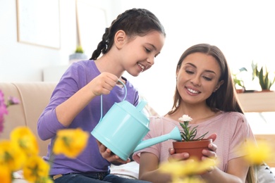
[[[17,42],[16,0],[0,0],[0,81],[42,81],[43,68],[68,64],[68,56],[75,50],[77,42],[75,0],[59,1],[61,49],[48,49]],[[104,8],[107,25],[118,13],[134,7],[147,8],[161,20],[167,36],[155,65],[139,77],[126,74],[159,114],[171,108],[176,63],[181,53],[193,44],[207,42],[219,46],[234,69],[250,69],[252,60],[267,65],[275,61],[275,11],[272,0],[78,1],[84,2],[87,7]],[[103,25],[94,23],[93,18],[97,15],[92,13],[92,8],[82,13],[86,13],[86,28],[92,30],[91,34],[100,32],[97,28],[102,29]],[[90,46],[85,44],[84,47],[88,56],[103,32],[97,40],[82,37],[82,42],[90,42]],[[253,84],[252,87],[259,86]]]

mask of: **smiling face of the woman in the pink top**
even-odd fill
[[[213,56],[191,53],[177,70],[177,89],[185,103],[205,103],[221,86],[221,69]]]

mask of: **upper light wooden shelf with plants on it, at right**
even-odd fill
[[[275,112],[275,92],[252,92],[238,94],[245,113]]]

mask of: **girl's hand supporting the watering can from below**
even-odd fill
[[[106,146],[104,146],[98,140],[97,140],[97,145],[99,146],[99,152],[102,154],[102,157],[108,160],[109,162],[114,163],[115,165],[126,164],[130,162],[130,158],[128,158],[127,160],[122,160],[121,158],[116,156],[114,153],[112,153],[110,149],[107,149]]]

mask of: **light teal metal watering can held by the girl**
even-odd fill
[[[124,88],[126,89],[125,85]],[[110,149],[121,159],[127,160],[131,153],[159,144],[162,141],[169,139],[181,141],[178,127],[175,127],[169,134],[142,141],[147,132],[149,132],[149,119],[142,113],[142,109],[147,102],[142,100],[135,107],[125,101],[125,98],[126,96],[123,101],[114,103],[91,132],[106,148]]]

